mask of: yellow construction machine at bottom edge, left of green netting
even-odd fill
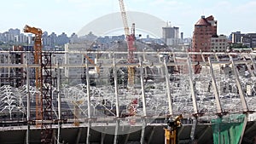
[[[183,116],[180,114],[173,119],[167,121],[167,128],[165,129],[165,143],[176,144],[177,143],[177,129],[181,127],[181,119]]]

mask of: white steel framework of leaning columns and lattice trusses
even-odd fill
[[[1,51],[1,53],[8,54],[9,51]],[[18,52],[23,53],[23,52]],[[42,88],[42,95],[44,94],[44,124],[47,126],[45,128],[50,128],[50,124],[53,123],[54,118],[57,117],[57,111],[52,104],[55,104],[55,99],[52,99],[51,95],[56,95],[55,87],[52,86],[52,77],[55,75],[55,69],[63,69],[64,67],[69,68],[80,68],[81,71],[84,67],[95,67],[94,64],[78,63],[77,65],[67,65],[65,63],[56,65],[53,63],[50,57],[61,54],[77,54],[84,55],[90,53],[92,55],[102,54],[113,54],[113,52],[102,51],[102,52],[85,52],[85,51],[62,51],[43,53],[42,55],[42,65],[36,64],[0,64],[0,68],[3,67],[39,67],[44,70],[42,72],[42,78],[44,79],[44,85]],[[114,55],[122,54],[123,52],[114,52]],[[60,54],[60,55],[61,55]],[[124,54],[127,54],[124,53]],[[58,90],[58,94],[61,95],[62,100],[62,112],[64,118],[69,120],[73,119],[73,115],[79,112],[79,114],[73,119],[75,122],[80,124],[96,124],[97,126],[104,126],[107,122],[114,122],[119,126],[116,127],[112,134],[117,134],[121,125],[132,125],[132,124],[150,124],[154,121],[154,118],[166,116],[177,116],[178,114],[183,114],[183,118],[195,119],[195,126],[193,125],[193,130],[196,128],[197,122],[209,121],[212,118],[224,117],[225,114],[229,113],[247,113],[256,110],[256,78],[255,78],[255,53],[184,53],[184,52],[136,52],[138,55],[145,54],[145,59],[140,60],[138,63],[119,63],[113,57],[110,63],[102,63],[101,68],[103,70],[108,70],[113,68],[114,81],[115,84],[111,85],[109,82],[109,73],[105,73],[104,76],[101,74],[101,79],[98,79],[96,86],[89,86],[87,84],[68,84],[65,79],[61,79],[61,75],[58,77],[61,81],[61,88]],[[159,55],[165,55],[165,59],[160,59],[160,61],[149,61],[154,60],[153,57],[158,57]],[[180,57],[181,60],[176,62],[168,58],[172,55],[172,58]],[[174,55],[174,56],[173,56]],[[189,61],[189,55],[210,55],[208,60],[202,61],[201,73],[195,74],[192,67],[197,65]],[[221,59],[219,57],[224,57]],[[183,59],[182,59],[183,58]],[[135,92],[126,89],[121,81],[117,77],[117,73],[126,74],[123,71],[123,67],[134,66],[137,68],[135,73]],[[174,69],[179,67],[185,67],[183,70],[185,72],[177,72]],[[146,71],[148,67],[152,73]],[[188,70],[190,72],[186,72]],[[181,68],[182,69],[182,68]],[[86,72],[89,76],[89,72]],[[145,76],[151,75],[153,78],[146,80]],[[89,82],[89,77],[86,77],[86,81]],[[104,80],[105,78],[105,80]],[[72,78],[75,79],[75,78]],[[169,86],[168,86],[169,85]],[[11,89],[9,89],[11,88]],[[4,85],[1,87],[0,93],[0,108],[1,114],[8,113],[6,118],[9,118],[9,113],[17,113],[17,109],[7,109],[4,107],[17,107],[16,105],[20,101],[19,107],[24,109],[19,111],[20,113],[26,114],[26,98],[22,95],[26,95],[27,91],[32,95],[32,101],[36,97],[38,90],[36,87],[22,86],[14,89]],[[8,89],[8,90],[5,90]],[[44,91],[45,90],[45,91]],[[5,92],[4,92],[5,91]],[[20,95],[19,99],[14,99],[12,95]],[[9,97],[9,101],[7,100]],[[129,113],[129,107],[131,106],[131,101],[137,99],[134,103],[136,107],[136,114],[131,116]],[[13,101],[13,103],[9,103]],[[73,111],[73,101],[79,101],[75,103],[75,109],[79,111]],[[31,107],[32,110],[36,109],[35,106]],[[8,110],[8,111],[7,111]],[[60,111],[59,111],[60,112]],[[11,114],[11,116],[13,116]],[[60,114],[60,113],[58,113]],[[52,115],[52,116],[50,116]],[[122,118],[123,117],[123,118]],[[11,117],[13,119],[13,117]],[[138,122],[138,119],[140,120]],[[147,123],[143,122],[146,119]],[[150,120],[151,121],[150,121]],[[47,122],[47,123],[46,123]],[[143,126],[142,126],[143,127]],[[96,129],[90,125],[90,129]],[[88,129],[88,134],[90,130]],[[50,134],[50,133],[49,133]],[[51,133],[52,134],[52,133]],[[52,134],[54,135],[54,134]],[[51,135],[51,136],[52,136]],[[143,137],[144,134],[142,134]],[[191,136],[194,133],[191,132]],[[47,137],[45,138],[45,140]],[[90,139],[90,138],[89,138]],[[117,137],[115,138],[118,139]],[[90,140],[88,140],[90,141]],[[141,140],[143,141],[143,140]],[[116,141],[118,142],[118,141]]]

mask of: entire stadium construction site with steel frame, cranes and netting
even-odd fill
[[[0,50],[0,142],[256,143],[256,53],[140,43],[119,6],[113,50],[43,50],[33,26],[32,47]]]

